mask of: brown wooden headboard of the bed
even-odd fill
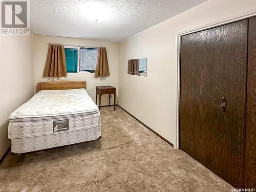
[[[86,81],[46,81],[37,83],[37,91],[80,88],[86,89]]]

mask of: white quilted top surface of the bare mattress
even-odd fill
[[[33,118],[45,119],[56,116],[93,113],[98,106],[85,89],[42,90],[12,112],[9,120],[26,121]]]

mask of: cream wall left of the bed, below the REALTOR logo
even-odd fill
[[[10,146],[8,116],[34,91],[33,35],[0,36],[0,159]]]

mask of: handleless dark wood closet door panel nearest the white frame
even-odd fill
[[[181,37],[180,149],[199,162],[204,152],[207,31]]]

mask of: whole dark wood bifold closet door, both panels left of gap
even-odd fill
[[[206,34],[200,48],[206,44],[206,57],[199,55],[199,61],[194,54],[186,54],[186,49],[195,48],[182,47],[187,40],[182,37],[180,148],[231,185],[242,187],[247,20],[209,29]],[[195,75],[189,74],[190,69]],[[222,97],[225,111],[221,111]]]

